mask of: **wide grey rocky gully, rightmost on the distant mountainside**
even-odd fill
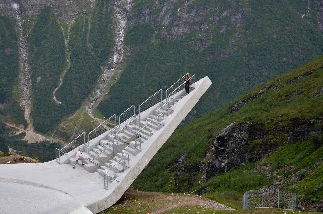
[[[93,115],[92,110],[99,105],[103,100],[104,95],[107,93],[107,85],[113,81],[112,76],[114,74],[119,74],[123,69],[124,62],[124,35],[127,25],[128,11],[130,10],[134,0],[120,0],[114,4],[114,15],[113,23],[115,25],[115,37],[116,43],[113,48],[113,54],[108,59],[108,66],[102,72],[102,75],[99,77],[99,85],[93,92],[92,97],[90,98],[90,103],[86,106],[86,110],[91,118],[97,122],[102,122],[102,120],[96,118]],[[101,66],[102,67],[102,66]],[[102,69],[103,70],[103,69]],[[114,79],[115,81],[116,79]]]

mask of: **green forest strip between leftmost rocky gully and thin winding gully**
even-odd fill
[[[32,112],[34,127],[46,133],[55,127],[63,109],[53,100],[53,91],[66,63],[64,36],[55,14],[45,8],[30,36],[29,63],[32,71]]]

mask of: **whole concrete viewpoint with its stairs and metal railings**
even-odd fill
[[[91,214],[112,206],[212,83],[207,76],[195,82],[192,75],[188,95],[184,84],[182,77],[138,107],[133,105],[82,133],[56,149],[56,160],[0,164],[2,212]],[[79,162],[73,169],[79,148],[85,165]]]

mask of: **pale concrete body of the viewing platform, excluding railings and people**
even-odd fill
[[[91,214],[109,208],[130,187],[211,84],[210,79],[204,77],[195,83],[194,89],[188,95],[184,90],[176,92],[171,97],[176,100],[176,103],[173,104],[174,111],[160,110],[160,112],[165,113],[165,117],[163,117],[163,125],[159,126],[158,129],[153,128],[158,126],[159,120],[158,123],[154,124],[153,119],[151,119],[151,114],[156,112],[156,106],[145,110],[142,118],[146,119],[146,123],[151,125],[150,127],[147,126],[148,128],[142,132],[141,137],[143,139],[140,151],[132,152],[131,146],[128,146],[130,150],[125,149],[123,151],[128,152],[127,166],[123,166],[123,170],[117,167],[113,168],[113,166],[118,165],[118,160],[119,162],[121,160],[120,153],[118,153],[119,156],[113,153],[115,156],[112,155],[110,162],[107,160],[102,167],[91,165],[91,169],[86,169],[81,167],[79,163],[76,169],[73,169],[71,161],[75,157],[78,147],[62,156],[61,164],[57,163],[56,160],[37,164],[0,164],[0,213]],[[139,120],[139,122],[141,121]],[[142,122],[144,125],[146,123]],[[131,124],[128,125],[131,127]],[[133,133],[136,133],[136,129],[134,130]],[[124,142],[128,140],[131,144],[133,142],[131,141],[131,131],[131,129],[124,130],[122,134],[116,134],[116,136],[124,139]],[[104,136],[107,134],[109,133],[105,133]],[[84,147],[83,151],[89,155],[93,154],[93,151],[99,152],[99,149],[105,146],[104,142],[108,142],[108,140],[101,140],[103,139],[102,136],[89,141],[90,146]],[[130,137],[128,138],[128,136]],[[103,145],[101,146],[100,143],[102,142]],[[124,147],[120,149],[124,149]],[[134,150],[136,150],[135,147]],[[102,150],[102,152],[105,151]],[[102,156],[99,159],[100,163],[106,157],[108,155]],[[114,162],[112,162],[112,158],[115,160]],[[108,171],[112,168],[113,174],[109,175],[115,179],[110,183],[108,180],[107,190],[103,183],[105,176],[102,175],[110,173]]]

